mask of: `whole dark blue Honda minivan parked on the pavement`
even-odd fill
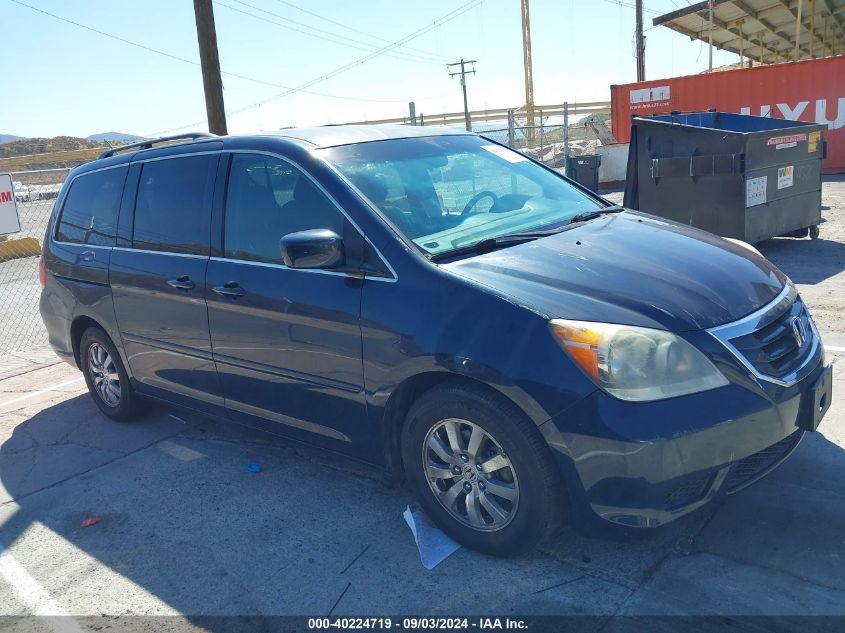
[[[453,129],[110,150],[65,183],[41,281],[106,415],[155,399],[345,453],[498,554],[737,492],[831,401],[759,252]]]

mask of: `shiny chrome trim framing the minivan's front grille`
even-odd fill
[[[758,380],[773,383],[781,387],[789,387],[804,378],[814,365],[812,361],[816,358],[820,347],[819,332],[816,329],[815,321],[813,321],[810,311],[804,305],[804,311],[807,314],[807,320],[810,323],[810,332],[812,340],[810,342],[810,351],[800,367],[785,376],[770,376],[759,371],[749,360],[740,352],[732,343],[732,339],[740,338],[749,334],[753,334],[757,330],[770,323],[774,322],[784,311],[788,310],[792,304],[798,300],[798,291],[792,282],[787,282],[783,290],[772,301],[764,305],[762,308],[752,312],[748,316],[734,321],[733,323],[726,323],[707,330],[709,334],[715,337],[728,351],[739,361],[739,363],[748,370],[748,372]],[[771,317],[772,314],[777,316]]]

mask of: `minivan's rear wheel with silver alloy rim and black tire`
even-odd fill
[[[113,420],[130,420],[141,412],[141,402],[120,354],[100,328],[90,327],[82,333],[79,364],[88,392],[100,411]]]

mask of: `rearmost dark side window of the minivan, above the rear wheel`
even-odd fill
[[[114,246],[126,167],[78,176],[65,198],[56,239],[72,244]]]

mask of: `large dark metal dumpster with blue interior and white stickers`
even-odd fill
[[[624,204],[750,243],[816,238],[825,129],[715,111],[633,117]]]

